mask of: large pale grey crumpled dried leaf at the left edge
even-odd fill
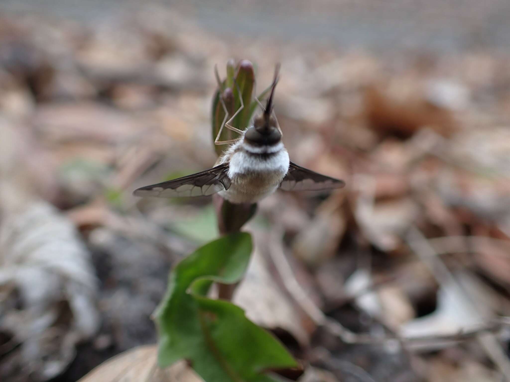
[[[53,206],[27,203],[2,223],[0,286],[8,292],[0,296],[0,330],[20,344],[12,362],[47,380],[98,328],[94,270],[74,226]]]

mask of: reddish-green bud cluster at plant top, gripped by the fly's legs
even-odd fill
[[[255,87],[255,72],[253,65],[248,60],[240,61],[235,67],[234,61],[230,60],[226,65],[226,78],[224,80],[218,78],[218,82],[220,83],[220,86],[213,97],[211,118],[213,142],[216,139],[224,121],[230,119],[235,112],[239,110],[239,107],[241,107],[241,98],[243,99],[244,109],[231,122],[232,126],[240,130],[246,129],[258,106],[257,101],[254,99],[252,100],[252,93]],[[262,100],[267,96],[269,89],[270,88],[264,90],[259,95],[259,100]],[[220,98],[223,100],[227,109],[228,116],[226,119]],[[235,131],[223,128],[219,140],[232,140],[237,138],[237,135],[238,133]],[[214,149],[216,150],[216,154],[219,156],[223,153],[225,145],[215,145]]]

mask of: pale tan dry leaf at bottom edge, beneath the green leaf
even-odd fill
[[[139,346],[97,366],[78,382],[203,382],[185,361],[160,369],[157,356],[157,345]]]

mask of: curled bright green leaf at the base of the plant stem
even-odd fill
[[[203,245],[170,272],[156,312],[161,367],[186,359],[207,382],[269,382],[275,379],[264,372],[297,366],[241,308],[205,297],[213,281],[241,279],[251,250],[248,233],[233,233]]]

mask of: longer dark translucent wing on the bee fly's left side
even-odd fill
[[[182,178],[140,187],[135,196],[155,196],[159,198],[208,196],[230,187],[227,175],[228,162],[210,170],[191,174]]]

